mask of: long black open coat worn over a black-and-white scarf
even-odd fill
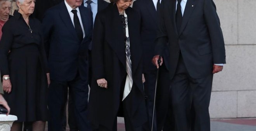
[[[140,44],[140,16],[132,8],[127,8],[130,37],[133,86],[126,97],[128,116],[134,127],[147,121],[142,85],[142,46]],[[123,92],[121,83],[126,77],[125,43],[123,25],[116,4],[97,13],[93,30],[92,71],[93,80],[89,99],[89,117],[92,128],[100,125],[112,130]],[[97,85],[97,79],[107,80],[107,89]],[[121,94],[121,95],[120,95]]]

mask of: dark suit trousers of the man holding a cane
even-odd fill
[[[180,55],[175,76],[171,80],[171,96],[175,131],[210,131],[209,103],[213,74],[200,79],[189,76]],[[193,104],[193,105],[192,105]],[[194,113],[192,111],[194,107]],[[194,117],[194,125],[191,119]]]

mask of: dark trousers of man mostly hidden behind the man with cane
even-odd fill
[[[156,89],[156,74],[157,70],[147,71],[144,73],[145,82],[144,82],[144,91],[147,96],[146,106],[147,106],[147,115],[149,121],[149,129],[152,127],[152,116],[154,108],[154,96]],[[154,122],[153,122],[153,131],[156,131],[156,109],[154,112]]]

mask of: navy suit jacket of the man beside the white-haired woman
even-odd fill
[[[88,79],[88,44],[92,40],[92,12],[79,7],[85,37],[80,42],[64,2],[50,8],[43,18],[43,33],[50,77],[56,81],[71,81],[79,72]]]

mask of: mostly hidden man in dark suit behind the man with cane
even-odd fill
[[[140,24],[140,34],[141,34],[141,43],[143,47],[143,73],[145,76],[145,83],[144,83],[144,91],[147,96],[147,113],[148,113],[148,119],[149,119],[149,126],[151,128],[152,126],[152,113],[153,113],[153,106],[154,106],[154,94],[155,94],[155,86],[156,86],[156,74],[157,69],[156,67],[151,63],[151,58],[155,55],[154,49],[155,49],[155,43],[154,40],[156,39],[156,31],[157,31],[157,11],[160,8],[161,0],[136,0],[133,2],[133,8],[138,11],[141,15],[141,24]],[[168,50],[166,50],[168,51]],[[168,53],[166,53],[168,55]],[[166,56],[167,57],[167,56]],[[161,68],[161,76],[164,74],[168,76],[168,71],[166,68]],[[163,83],[169,83],[168,77],[161,79],[161,85],[159,85],[159,88],[167,89],[167,92],[169,91],[170,84],[163,84]],[[164,82],[165,81],[165,82]],[[160,97],[158,97],[160,98]],[[168,98],[166,98],[168,99]],[[161,101],[164,101],[166,99],[161,99]],[[168,105],[165,105],[168,106]],[[161,114],[163,111],[162,109],[157,109],[157,111],[154,113],[154,123],[153,128],[156,130],[156,124],[157,127],[161,125],[163,127],[165,117],[161,117],[157,119],[156,122],[156,114]],[[161,115],[160,115],[161,116]],[[162,129],[162,128],[161,128]],[[160,130],[161,130],[160,129]]]

